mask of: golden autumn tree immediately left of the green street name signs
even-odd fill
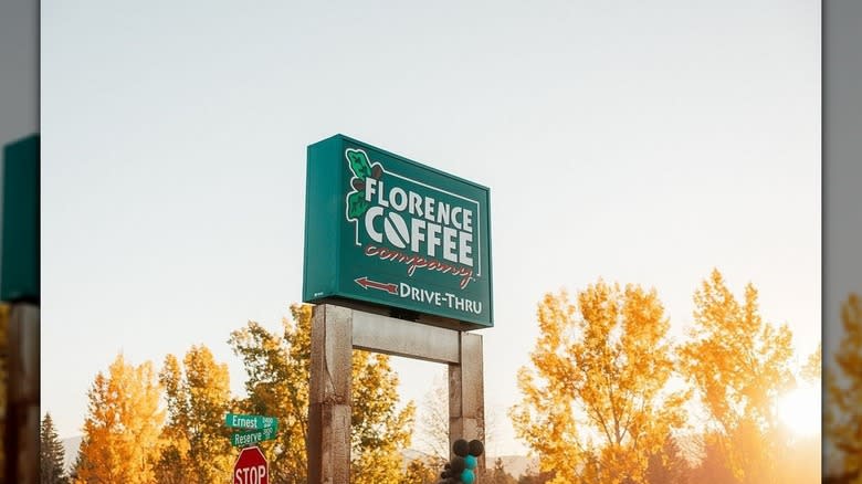
[[[159,483],[209,484],[230,475],[233,453],[224,414],[231,410],[228,366],[206,346],[192,346],[180,364],[168,355],[159,373],[168,422],[162,430]]]

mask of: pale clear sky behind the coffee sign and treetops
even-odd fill
[[[118,351],[301,299],[306,146],[336,133],[491,188],[497,453],[548,291],[713,267],[803,358],[821,334],[820,2],[44,0],[42,411],[81,433]],[[399,360],[403,399],[443,371]]]

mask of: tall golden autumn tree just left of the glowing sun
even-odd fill
[[[775,402],[793,381],[787,325],[763,320],[753,284],[738,302],[715,270],[694,294],[683,370],[709,415],[716,444],[743,484],[776,482],[780,450]]]

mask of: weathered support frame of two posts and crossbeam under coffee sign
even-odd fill
[[[354,347],[448,364],[450,440],[484,440],[482,336],[330,304],[318,305],[312,316],[307,442],[311,484],[350,482]],[[476,466],[483,469],[484,455]]]

